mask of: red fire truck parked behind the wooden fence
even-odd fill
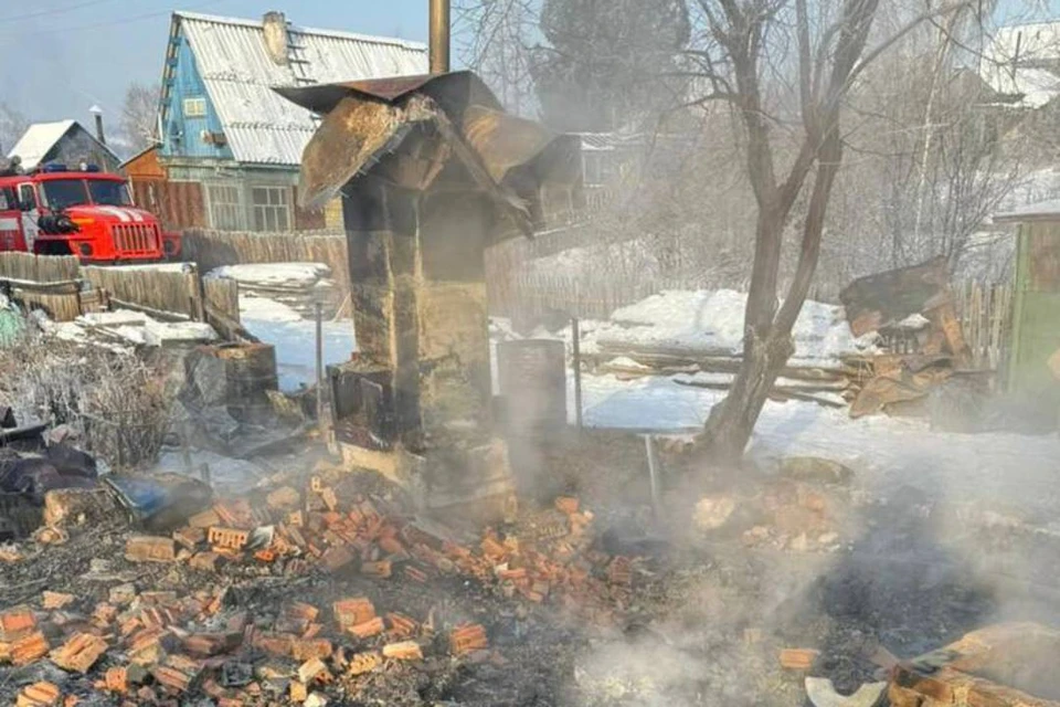
[[[0,251],[144,263],[176,257],[180,236],[136,208],[118,175],[51,163],[30,173],[0,171]]]

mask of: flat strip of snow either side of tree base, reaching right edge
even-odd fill
[[[573,376],[568,410],[574,420]],[[688,388],[666,378],[622,381],[584,376],[585,424],[594,428],[692,432],[723,391]],[[766,402],[751,454],[763,461],[816,455],[847,463],[879,490],[910,485],[955,502],[1010,503],[1041,511],[1060,507],[1060,436],[935,432],[922,421],[872,416],[789,401]]]

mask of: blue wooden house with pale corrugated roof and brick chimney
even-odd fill
[[[327,213],[340,210],[296,205],[301,152],[319,119],[273,88],[426,71],[425,44],[299,28],[280,12],[261,20],[174,12],[158,116],[157,161],[166,177],[155,187],[160,202],[182,201],[161,210],[183,215],[167,225],[325,228]]]

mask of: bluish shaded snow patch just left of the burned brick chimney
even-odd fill
[[[276,347],[276,368],[280,390],[297,390],[316,381],[317,325],[303,319],[287,305],[240,295],[240,320],[246,329]],[[353,323],[349,319],[324,323],[324,365],[349,360],[357,348]]]

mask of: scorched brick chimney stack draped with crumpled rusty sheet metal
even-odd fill
[[[507,115],[469,72],[276,91],[326,116],[303,205],[342,196],[358,352],[329,380],[347,465],[406,485],[424,510],[509,515],[485,252],[530,233],[544,194],[569,200],[576,143]]]

